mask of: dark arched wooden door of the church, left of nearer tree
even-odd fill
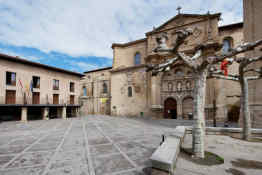
[[[177,102],[173,98],[167,98],[164,103],[164,118],[177,119]]]

